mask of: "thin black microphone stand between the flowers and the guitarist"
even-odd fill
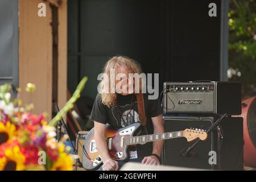
[[[55,105],[55,109],[56,109],[57,113],[60,111],[59,106],[57,106],[57,105]],[[67,129],[68,127],[67,127],[67,125],[66,125],[66,123],[64,122],[64,120],[63,120],[62,117],[61,117],[61,120],[60,120],[60,121],[58,122],[58,124],[57,124],[57,136],[56,136],[56,137],[57,137],[57,142],[60,141],[61,126],[63,126],[63,128],[64,128],[65,134],[68,135],[68,129]],[[69,143],[71,144],[72,151],[77,155],[76,148],[75,148],[75,146],[73,145],[73,143],[72,143],[72,141],[71,141],[69,135],[68,135],[68,140],[69,140]],[[76,166],[82,167],[82,163],[81,163],[81,161],[80,161],[79,158],[76,159]]]

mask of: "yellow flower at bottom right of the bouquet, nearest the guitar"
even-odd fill
[[[73,170],[73,160],[71,155],[67,153],[60,153],[59,158],[53,163],[52,171],[72,171]]]

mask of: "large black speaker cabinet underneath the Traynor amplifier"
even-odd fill
[[[216,117],[164,117],[166,132],[189,128],[207,130]],[[208,134],[208,139],[200,141],[191,156],[181,156],[180,151],[188,146],[185,138],[164,140],[163,164],[168,166],[243,170],[243,123],[240,117],[225,117],[220,129]],[[220,131],[220,132],[219,132]]]

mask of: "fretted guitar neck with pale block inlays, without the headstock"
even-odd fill
[[[144,144],[147,142],[154,142],[157,140],[166,140],[166,139],[179,138],[179,137],[182,137],[182,131],[172,131],[172,132],[152,134],[152,135],[141,135],[137,137],[126,137],[124,139],[124,144],[129,146],[134,144]]]

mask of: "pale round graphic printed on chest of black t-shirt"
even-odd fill
[[[137,102],[135,102],[135,104],[137,104]],[[112,107],[112,115],[115,121],[117,122],[118,126],[119,126],[119,123],[121,123],[122,127],[125,127],[134,122],[139,122],[139,114],[134,109],[131,109],[130,104],[127,104],[125,106],[119,106],[119,107],[123,111],[122,118],[118,113],[117,106]]]

